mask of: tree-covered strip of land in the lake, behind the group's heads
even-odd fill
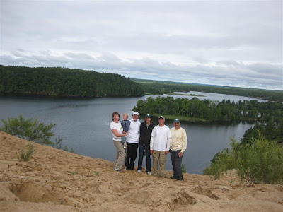
[[[144,114],[174,115],[181,119],[199,121],[269,121],[271,119],[279,121],[283,119],[281,102],[258,102],[258,100],[214,102],[198,98],[188,100],[187,98],[157,97],[154,99],[149,97],[146,100],[137,101],[137,106],[133,110]]]

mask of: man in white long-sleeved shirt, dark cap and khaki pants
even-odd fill
[[[158,117],[158,122],[159,124],[154,127],[151,133],[150,151],[154,160],[152,175],[166,177],[166,156],[169,153],[171,131],[169,127],[164,124],[165,118],[163,116]]]

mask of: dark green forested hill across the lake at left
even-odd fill
[[[144,89],[113,73],[0,65],[0,93],[103,97],[139,96],[144,95]]]

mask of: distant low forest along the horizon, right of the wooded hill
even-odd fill
[[[174,83],[166,81],[149,81],[132,78],[132,81],[144,85],[145,93],[163,94],[173,92],[207,92],[207,93],[223,93],[228,95],[240,95],[264,100],[283,102],[282,90],[261,90],[253,88],[235,88],[226,86],[207,86],[191,83]]]

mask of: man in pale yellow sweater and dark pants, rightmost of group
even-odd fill
[[[187,134],[185,129],[180,127],[180,119],[174,119],[174,127],[171,128],[170,155],[173,166],[172,179],[183,180],[182,158],[187,148]]]

